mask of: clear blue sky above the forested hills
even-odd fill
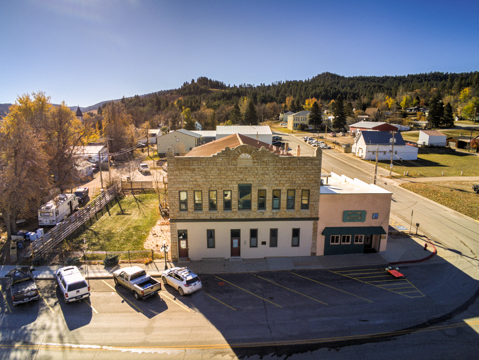
[[[0,103],[479,70],[479,1],[0,0]]]

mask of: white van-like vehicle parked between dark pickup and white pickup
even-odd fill
[[[90,295],[90,287],[76,266],[66,266],[58,269],[55,272],[55,277],[66,303]]]

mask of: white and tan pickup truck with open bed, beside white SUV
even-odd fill
[[[161,282],[151,277],[139,266],[122,267],[113,272],[115,285],[120,284],[133,292],[136,300],[161,291]]]

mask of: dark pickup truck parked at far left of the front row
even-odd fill
[[[6,274],[10,278],[10,295],[13,305],[40,298],[35,279],[31,273],[34,270],[34,268],[29,266],[22,266],[10,270]]]

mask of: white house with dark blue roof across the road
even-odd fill
[[[392,146],[394,143],[394,146]],[[393,160],[416,160],[417,150],[415,146],[406,145],[400,132],[394,137],[389,131],[358,131],[351,147],[351,152],[364,160],[375,160],[376,147],[378,160],[389,160],[391,151],[394,151]],[[394,147],[392,149],[392,147]]]

